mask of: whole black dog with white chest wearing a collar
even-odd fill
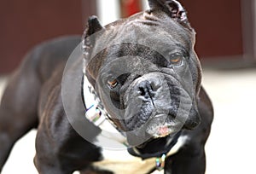
[[[148,11],[105,27],[90,17],[77,48],[83,57],[74,51],[67,61],[77,37],[26,56],[0,107],[0,171],[15,141],[38,128],[39,173],[205,172],[213,111],[195,32],[177,1],[148,3]],[[108,159],[106,147],[127,150]]]

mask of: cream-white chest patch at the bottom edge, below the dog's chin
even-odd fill
[[[166,155],[167,157],[176,154],[187,142],[189,136],[180,136],[175,146]],[[141,159],[129,154],[126,150],[108,150],[102,149],[103,160],[93,163],[99,169],[113,171],[113,173],[132,174],[132,173],[148,173],[156,166],[155,159]],[[164,173],[164,171],[154,171],[155,173]]]

